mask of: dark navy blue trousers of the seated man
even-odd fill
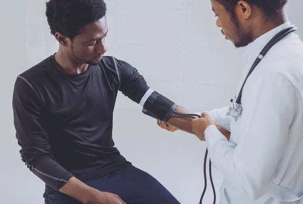
[[[159,181],[132,165],[85,183],[100,191],[117,194],[127,204],[180,204]],[[56,191],[46,195],[45,204],[80,204],[80,202]]]

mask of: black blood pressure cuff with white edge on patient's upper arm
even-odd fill
[[[177,104],[151,89],[143,96],[140,105],[143,106],[142,112],[144,114],[163,122],[167,122],[178,107]]]

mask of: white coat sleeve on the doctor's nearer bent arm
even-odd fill
[[[267,73],[256,100],[245,101],[237,146],[214,125],[205,131],[213,164],[229,183],[253,199],[262,197],[272,182],[287,144],[295,107],[293,86],[282,74]]]

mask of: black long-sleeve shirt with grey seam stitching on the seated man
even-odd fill
[[[43,196],[72,176],[85,181],[130,164],[114,147],[115,101],[121,91],[139,103],[148,89],[134,67],[108,56],[69,75],[52,55],[17,77],[16,137],[22,161],[46,184]]]

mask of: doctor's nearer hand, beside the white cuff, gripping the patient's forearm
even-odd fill
[[[214,119],[208,113],[202,113],[201,116],[203,118],[193,119],[191,122],[192,131],[195,133],[196,137],[200,141],[205,141],[205,130],[210,125],[216,125],[218,127],[218,123],[214,121]]]

